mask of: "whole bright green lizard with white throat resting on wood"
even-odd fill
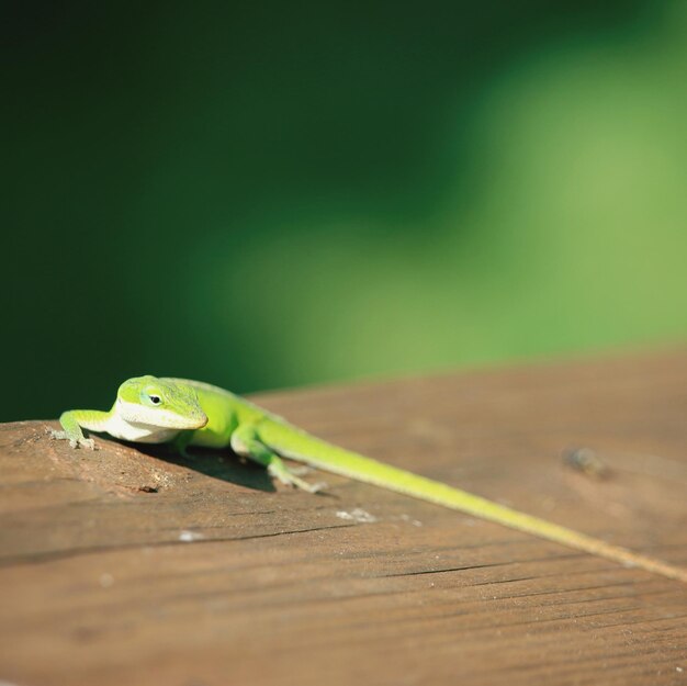
[[[172,442],[182,453],[189,446],[230,446],[237,454],[264,465],[273,479],[311,493],[317,491],[317,485],[302,480],[281,459],[290,458],[687,583],[687,570],[338,448],[228,391],[199,381],[149,375],[129,379],[120,386],[109,412],[72,409],[59,421],[64,430],[53,431],[53,436],[68,440],[72,448],[94,449],[82,429],[129,441]]]

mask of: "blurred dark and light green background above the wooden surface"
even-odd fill
[[[687,3],[10,3],[0,419],[687,334]]]

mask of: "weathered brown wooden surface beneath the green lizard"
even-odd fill
[[[257,400],[687,566],[687,353]],[[75,452],[47,426],[0,426],[0,682],[687,684],[684,584],[346,479],[274,490],[229,454]]]

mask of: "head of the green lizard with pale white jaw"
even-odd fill
[[[169,429],[201,429],[207,424],[192,386],[156,376],[125,381],[117,391],[115,407],[131,424]]]

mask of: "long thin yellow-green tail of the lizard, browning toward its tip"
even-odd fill
[[[511,529],[518,529],[570,548],[613,560],[626,566],[640,567],[687,583],[687,570],[685,569],[632,552],[627,548],[611,546],[600,539],[498,505],[439,481],[432,481],[338,448],[301,431],[294,426],[268,420],[260,425],[259,432],[261,439],[279,454],[294,458],[327,472],[341,474],[387,491],[403,493],[420,501],[436,503],[481,519],[495,521]]]

